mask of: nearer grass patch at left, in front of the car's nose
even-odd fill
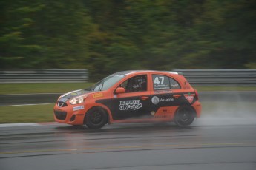
[[[54,104],[0,106],[0,123],[52,122]]]

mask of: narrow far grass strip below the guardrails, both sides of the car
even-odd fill
[[[28,93],[65,93],[85,89],[93,83],[34,83],[0,84],[0,95]],[[198,92],[204,91],[256,91],[256,86],[193,86]]]

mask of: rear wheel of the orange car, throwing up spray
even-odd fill
[[[180,106],[174,115],[174,123],[177,126],[189,126],[195,118],[194,109],[190,106]]]

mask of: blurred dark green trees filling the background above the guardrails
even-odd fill
[[[255,0],[0,1],[0,67],[256,69]]]

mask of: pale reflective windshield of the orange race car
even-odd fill
[[[124,75],[109,75],[106,78],[103,78],[101,81],[96,83],[94,86],[90,88],[90,91],[92,92],[99,92],[102,90],[109,89],[111,86],[116,84],[119,80],[124,78]]]

